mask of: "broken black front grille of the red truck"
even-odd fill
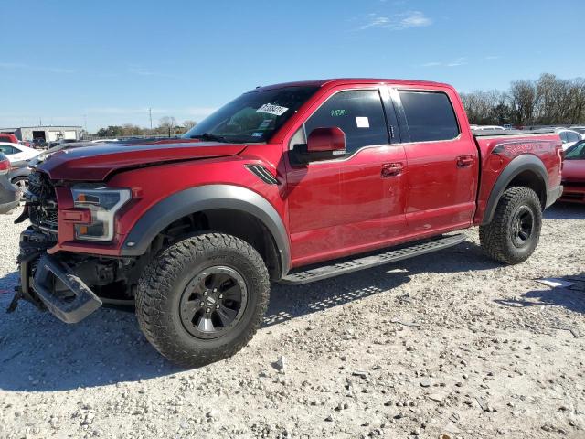
[[[57,197],[46,174],[35,171],[28,176],[27,202],[30,222],[41,230],[57,232]]]

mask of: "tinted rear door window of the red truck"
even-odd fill
[[[451,140],[459,125],[449,97],[432,91],[399,91],[411,142]]]

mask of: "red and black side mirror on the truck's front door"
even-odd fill
[[[318,160],[331,160],[346,154],[346,134],[336,126],[315,128],[306,144],[297,144],[291,151],[291,163],[306,165]]]

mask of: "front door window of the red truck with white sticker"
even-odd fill
[[[369,145],[388,145],[388,127],[377,90],[340,91],[304,123],[309,135],[315,128],[339,127],[346,134],[347,153]]]

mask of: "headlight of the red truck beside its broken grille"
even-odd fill
[[[76,224],[75,238],[86,241],[112,241],[116,212],[132,198],[130,189],[72,187],[76,208],[89,209],[90,224]]]

